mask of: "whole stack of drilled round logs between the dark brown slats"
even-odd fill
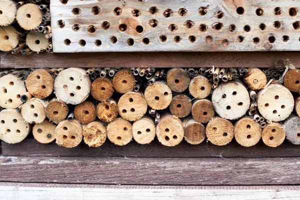
[[[197,72],[196,72],[197,71]],[[267,70],[266,70],[267,71]],[[267,82],[258,68],[67,68],[0,72],[0,139],[71,148],[106,138],[175,146],[300,144],[297,71]],[[292,113],[294,110],[295,113]],[[283,123],[282,123],[283,122]]]

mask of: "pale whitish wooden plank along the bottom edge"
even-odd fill
[[[299,186],[147,186],[0,183],[3,199],[298,199]]]

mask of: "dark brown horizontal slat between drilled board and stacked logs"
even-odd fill
[[[39,53],[30,56],[0,52],[0,67],[272,67],[280,58],[289,58],[300,67],[298,52]]]

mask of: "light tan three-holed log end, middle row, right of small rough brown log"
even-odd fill
[[[147,102],[140,92],[127,92],[117,102],[119,115],[128,121],[140,119],[147,111]]]

